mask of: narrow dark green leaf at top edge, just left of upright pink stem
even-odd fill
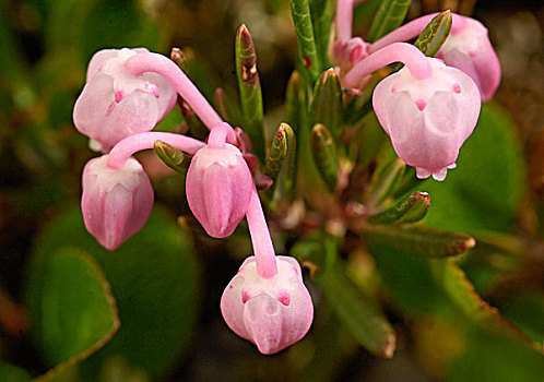
[[[316,47],[321,62],[320,70],[331,67],[327,52],[331,37],[331,25],[333,23],[332,13],[331,1],[310,0],[310,14],[316,36]]]

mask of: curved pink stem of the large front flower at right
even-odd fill
[[[416,80],[433,75],[430,63],[419,49],[410,44],[393,43],[357,62],[345,74],[342,85],[356,87],[365,76],[393,62],[404,63]]]

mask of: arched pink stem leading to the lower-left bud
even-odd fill
[[[119,169],[125,167],[127,160],[132,154],[153,148],[155,141],[164,141],[170,146],[181,150],[188,154],[194,154],[205,146],[204,142],[193,140],[192,138],[174,133],[162,133],[152,131],[149,133],[138,133],[119,141],[109,152],[108,167]]]

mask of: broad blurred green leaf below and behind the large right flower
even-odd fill
[[[444,182],[417,186],[433,198],[426,223],[462,232],[508,231],[518,215],[525,178],[515,127],[498,106],[483,105],[457,164]]]

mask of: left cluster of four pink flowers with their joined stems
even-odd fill
[[[151,131],[175,105],[176,93],[210,129],[208,142]],[[245,153],[247,136],[222,121],[173,61],[146,49],[97,52],[73,120],[92,140],[90,146],[103,153],[83,170],[81,201],[85,227],[102,246],[113,251],[145,225],[153,189],[132,154],[166,142],[192,156],[187,200],[210,236],[225,238],[247,217],[255,256],[221,300],[228,326],[263,354],[306,335],[314,319],[311,298],[297,261],[275,256],[250,171],[256,158]]]

